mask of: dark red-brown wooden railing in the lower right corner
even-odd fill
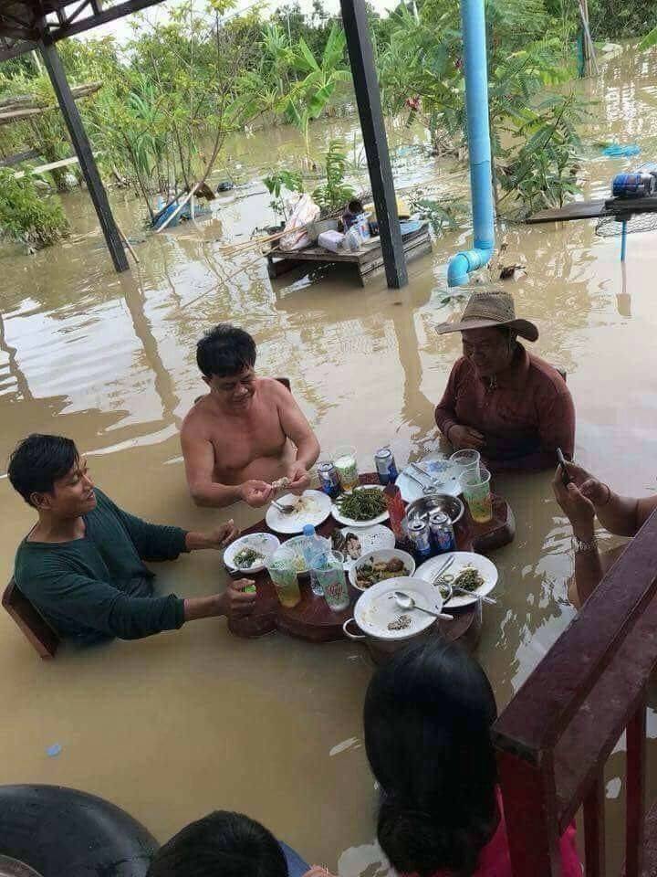
[[[514,877],[560,877],[558,839],[582,805],[586,877],[604,877],[603,771],[624,730],[625,874],[657,874],[657,808],[646,816],[644,799],[656,591],[657,512],[495,723]]]

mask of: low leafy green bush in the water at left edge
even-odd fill
[[[68,219],[55,195],[39,192],[27,176],[0,168],[0,233],[34,247],[48,247],[68,235]]]

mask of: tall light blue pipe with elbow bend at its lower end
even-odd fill
[[[495,247],[484,3],[485,0],[461,0],[474,248],[456,253],[450,259],[449,286],[467,283],[468,274],[483,268]]]

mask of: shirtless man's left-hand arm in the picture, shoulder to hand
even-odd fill
[[[181,445],[187,484],[196,505],[221,509],[239,500],[259,507],[271,497],[271,485],[265,481],[245,481],[244,484],[219,484],[214,476],[214,448],[212,442],[199,435],[189,424],[183,424]]]

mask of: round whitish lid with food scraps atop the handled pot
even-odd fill
[[[402,609],[393,597],[395,591],[403,591],[418,606],[434,612],[443,608],[443,597],[438,588],[422,578],[388,578],[369,587],[356,601],[354,618],[363,633],[374,639],[410,639],[433,625],[435,618],[425,612]]]

